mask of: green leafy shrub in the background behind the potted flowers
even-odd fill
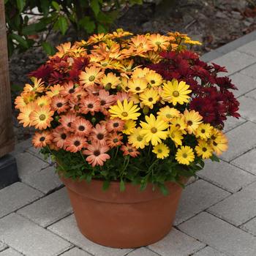
[[[8,53],[42,45],[46,53],[53,54],[48,40],[50,31],[66,34],[69,27],[80,37],[108,31],[118,18],[124,4],[142,4],[142,0],[5,0]],[[37,7],[38,12],[34,13]],[[37,21],[31,22],[31,17]],[[48,31],[46,38],[42,31]]]

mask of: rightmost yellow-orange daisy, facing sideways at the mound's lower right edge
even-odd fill
[[[226,135],[219,131],[218,129],[213,130],[213,134],[211,138],[207,141],[211,147],[214,149],[214,152],[219,156],[223,152],[227,151],[228,148],[228,140]]]

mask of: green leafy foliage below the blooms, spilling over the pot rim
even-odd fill
[[[171,151],[175,151],[175,145],[172,140],[165,141]],[[195,142],[187,141],[187,145],[192,146]],[[195,145],[194,145],[195,146]],[[110,150],[110,159],[104,166],[92,167],[86,162],[81,152],[71,153],[64,151],[51,151],[49,148],[42,148],[42,154],[46,157],[53,156],[58,163],[57,171],[66,178],[74,180],[85,180],[90,182],[92,178],[103,180],[102,189],[106,190],[110,186],[110,181],[119,181],[120,191],[125,190],[127,182],[140,185],[140,189],[146,189],[147,185],[154,184],[159,187],[164,195],[168,195],[165,187],[166,181],[173,181],[184,187],[181,183],[183,177],[196,176],[197,171],[204,167],[203,159],[195,157],[195,161],[190,165],[181,165],[171,155],[165,159],[157,159],[151,152],[151,146],[146,146],[140,151],[140,157],[124,157],[122,151],[113,148]],[[213,158],[214,160],[217,157]]]

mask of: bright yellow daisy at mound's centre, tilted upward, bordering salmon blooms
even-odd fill
[[[138,116],[140,116],[140,113],[138,113],[137,105],[134,105],[132,101],[128,102],[127,99],[124,99],[124,102],[120,100],[117,101],[117,105],[110,106],[110,109],[108,110],[110,112],[111,118],[121,118],[122,120],[137,120]]]

